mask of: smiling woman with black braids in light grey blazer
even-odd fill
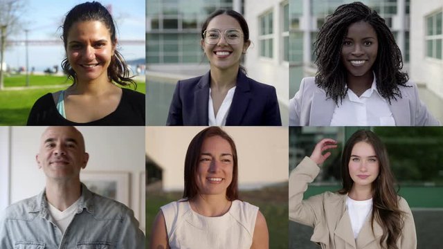
[[[314,45],[318,71],[290,100],[290,125],[439,125],[400,71],[401,52],[390,29],[368,6],[339,6]]]

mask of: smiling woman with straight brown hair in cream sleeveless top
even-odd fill
[[[238,199],[237,149],[219,127],[192,139],[185,158],[183,199],[161,207],[150,248],[269,248],[258,207]]]

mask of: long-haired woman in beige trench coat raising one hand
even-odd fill
[[[314,227],[311,241],[322,248],[417,248],[413,215],[395,191],[395,178],[381,140],[372,131],[356,131],[345,144],[341,160],[343,188],[307,200],[307,183],[336,148],[320,140],[289,176],[289,219]]]

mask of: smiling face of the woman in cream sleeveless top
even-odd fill
[[[220,136],[206,138],[201,145],[195,176],[199,194],[222,194],[233,180],[233,152]]]

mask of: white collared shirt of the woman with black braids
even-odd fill
[[[343,102],[335,107],[331,126],[395,126],[389,103],[377,90],[376,79],[370,89],[357,96],[347,89]]]

